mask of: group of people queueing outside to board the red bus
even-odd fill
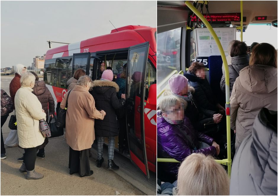
[[[69,145],[68,167],[71,175],[78,173],[80,177],[84,177],[93,174],[89,154],[95,139],[98,154],[96,166],[101,167],[104,162],[102,151],[105,137],[109,141],[107,169],[119,169],[114,162],[114,147],[115,136],[119,135],[119,124],[126,118],[123,112],[126,69],[116,78],[111,69],[107,68],[102,71],[100,80],[92,81],[83,69],[77,69],[74,76],[67,81],[68,91],[60,108],[65,109],[68,104],[65,138]],[[15,77],[9,90],[11,97],[1,89],[1,159],[6,158],[4,144],[24,149],[23,157],[17,159],[22,161],[19,171],[27,172],[26,179],[41,179],[43,174],[35,171],[35,161],[36,158],[45,158],[44,147],[49,141],[41,133],[39,124],[41,119],[48,122],[50,116],[50,123],[55,117],[54,99],[45,82],[39,81],[37,74],[27,71],[22,64],[15,65]],[[17,130],[11,130],[4,143],[2,126],[13,110]],[[121,114],[119,119],[119,114],[116,113]],[[125,144],[126,128],[120,128],[119,151],[129,154],[128,145]]]

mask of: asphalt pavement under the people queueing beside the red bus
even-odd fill
[[[9,94],[9,83],[13,77],[1,76],[1,88]],[[9,134],[9,117],[2,127],[4,141]],[[45,159],[38,159],[35,170],[44,174],[40,180],[26,180],[20,173],[24,150],[18,147],[6,149],[7,158],[1,160],[1,195],[156,195],[156,173],[145,176],[128,158],[115,152],[114,162],[119,170],[106,170],[107,147],[104,146],[104,163],[96,167],[96,142],[91,149],[90,167],[92,176],[80,178],[69,174],[69,146],[64,136],[51,138],[45,147]]]

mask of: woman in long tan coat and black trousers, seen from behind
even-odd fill
[[[66,139],[70,146],[69,168],[70,174],[79,173],[80,177],[90,176],[89,149],[95,140],[95,119],[103,119],[105,111],[98,111],[95,100],[89,93],[92,79],[81,76],[75,87],[70,90],[63,101],[61,109],[65,108],[68,98],[66,116]]]

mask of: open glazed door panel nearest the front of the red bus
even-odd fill
[[[145,77],[149,42],[129,47],[127,58],[126,116],[131,162],[149,178],[144,130]]]

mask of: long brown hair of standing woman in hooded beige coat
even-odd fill
[[[252,51],[249,65],[261,64],[277,68],[277,50],[271,44],[257,44]]]

